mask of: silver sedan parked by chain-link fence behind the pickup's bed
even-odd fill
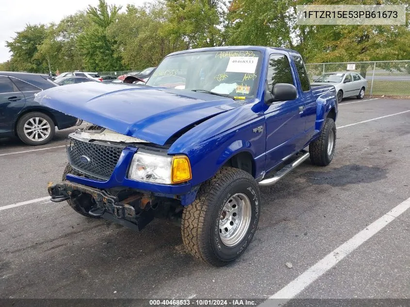
[[[337,100],[342,101],[345,97],[363,99],[367,89],[367,80],[356,72],[328,72],[316,79],[311,85],[332,84],[336,88]]]

